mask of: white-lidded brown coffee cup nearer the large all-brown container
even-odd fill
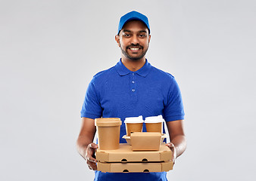
[[[126,136],[130,137],[131,132],[142,132],[143,118],[142,115],[138,117],[125,118]]]

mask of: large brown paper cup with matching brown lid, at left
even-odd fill
[[[98,149],[119,149],[120,118],[95,118],[98,131]]]

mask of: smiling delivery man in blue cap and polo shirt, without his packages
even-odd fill
[[[183,102],[178,84],[172,75],[151,66],[145,58],[150,42],[148,18],[132,11],[120,18],[115,36],[121,49],[116,66],[98,72],[89,83],[81,110],[82,127],[77,149],[86,159],[89,169],[95,170],[95,180],[167,180],[166,172],[156,173],[101,173],[97,171],[95,149],[95,118],[120,118],[142,115],[163,115],[167,123],[173,151],[173,163],[186,149],[183,133]],[[143,125],[145,131],[145,125]],[[120,143],[126,134],[120,127]]]

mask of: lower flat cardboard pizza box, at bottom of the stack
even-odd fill
[[[97,169],[101,172],[163,172],[173,169],[173,162],[155,163],[101,163],[98,162]]]

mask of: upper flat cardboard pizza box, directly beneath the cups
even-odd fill
[[[98,162],[150,162],[170,161],[172,152],[164,143],[158,151],[133,152],[132,146],[127,143],[120,143],[119,149],[96,151]]]

